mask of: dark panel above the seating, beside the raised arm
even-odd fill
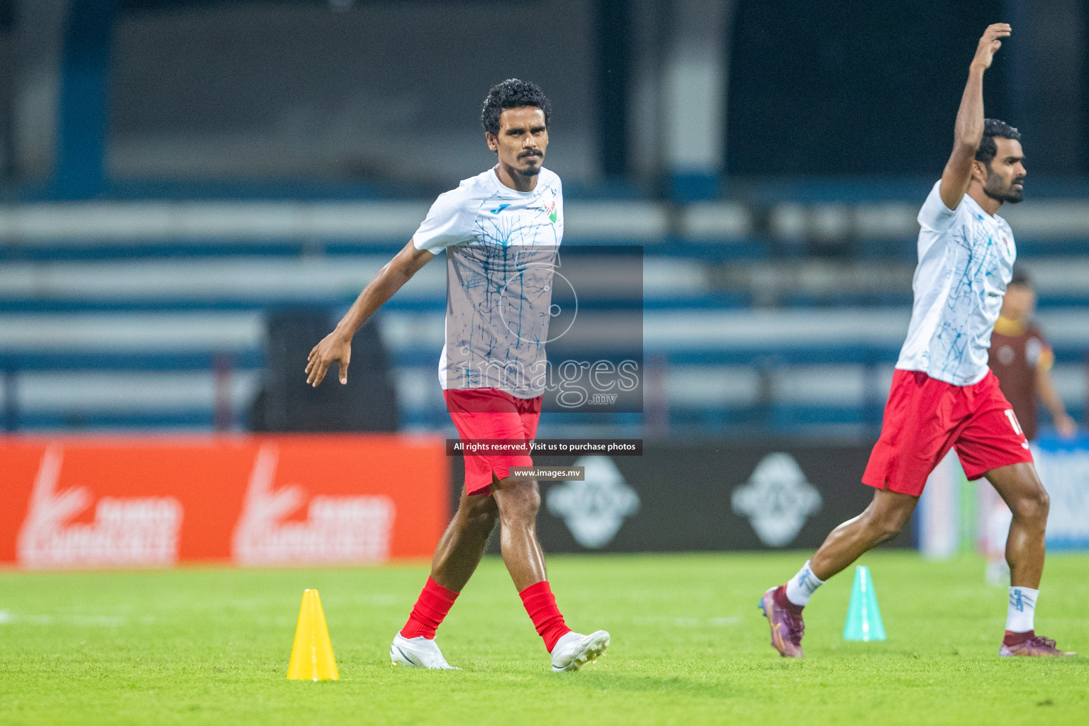
[[[949,158],[970,38],[1006,16],[1003,5],[742,0],[727,172],[934,175]],[[1010,113],[1012,62],[1000,51],[987,73],[989,116]]]

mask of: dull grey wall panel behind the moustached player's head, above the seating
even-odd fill
[[[577,0],[127,13],[114,36],[109,168],[449,187],[493,163],[480,107],[517,76],[552,99],[549,165],[590,177],[592,64],[592,5]]]

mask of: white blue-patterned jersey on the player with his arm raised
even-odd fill
[[[896,368],[953,385],[987,376],[991,331],[1013,276],[1017,248],[1004,219],[967,194],[949,209],[934,184],[919,210],[915,305]]]

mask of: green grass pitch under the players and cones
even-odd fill
[[[563,674],[495,558],[439,630],[463,668],[445,673],[388,660],[424,566],[0,571],[0,724],[1089,723],[1089,659],[998,657],[1006,591],[976,557],[867,555],[889,640],[841,639],[848,570],[806,610],[806,660],[780,659],[756,605],[803,561],[552,557],[568,625],[612,633],[605,657]],[[1087,573],[1089,556],[1050,557],[1037,613],[1042,635],[1084,653]],[[340,681],[284,678],[308,587]]]

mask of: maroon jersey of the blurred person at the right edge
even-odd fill
[[[1037,371],[1048,370],[1055,362],[1051,344],[1036,323],[1024,324],[1000,317],[991,335],[989,362],[1025,436],[1031,441],[1037,427]]]

